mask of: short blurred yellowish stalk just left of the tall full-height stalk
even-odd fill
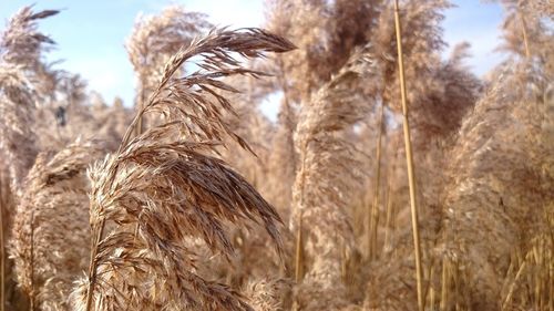
[[[377,166],[376,166],[376,182],[373,188],[373,204],[371,206],[370,220],[368,227],[368,247],[369,247],[369,258],[375,259],[377,257],[377,226],[379,221],[379,189],[381,182],[381,141],[382,141],[382,127],[384,118],[384,104],[381,103],[381,112],[379,117],[379,134],[377,137]]]

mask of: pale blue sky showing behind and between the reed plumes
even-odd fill
[[[447,11],[443,27],[447,41],[453,45],[472,44],[472,70],[481,75],[502,60],[494,52],[499,44],[502,9],[480,0],[455,0],[458,8]],[[89,89],[99,91],[106,102],[119,95],[132,104],[134,74],[123,46],[136,15],[160,12],[172,3],[192,11],[208,13],[218,25],[258,27],[265,19],[263,0],[0,0],[1,29],[19,8],[35,3],[35,9],[62,9],[40,23],[58,43],[49,60],[64,60],[58,68],[80,73]],[[448,51],[445,52],[448,53]],[[264,111],[274,115],[276,106]]]

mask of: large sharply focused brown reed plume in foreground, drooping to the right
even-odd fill
[[[263,73],[240,66],[234,56],[291,49],[290,42],[259,29],[222,29],[168,61],[119,152],[91,169],[93,249],[89,279],[74,292],[78,310],[252,310],[234,290],[195,273],[187,240],[203,240],[214,252],[232,256],[226,222],[256,221],[280,249],[274,208],[209,154],[225,146],[225,136],[249,149],[224,122],[222,112],[234,111],[216,90],[235,92],[219,77]],[[202,60],[199,70],[175,76],[195,55]],[[131,139],[140,117],[152,112],[166,123]],[[135,226],[136,236],[130,231]]]

